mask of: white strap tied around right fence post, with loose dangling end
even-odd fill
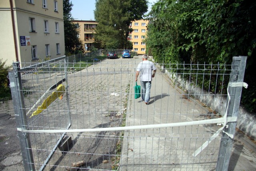
[[[236,83],[235,82],[229,82],[228,87],[244,87],[244,88],[247,88],[248,84],[245,83],[245,82],[236,82]],[[227,88],[227,91],[228,91],[228,88]],[[228,105],[226,107],[226,112],[225,112],[224,116],[222,117],[224,119],[224,122],[222,123],[223,126],[220,129],[218,129],[218,131],[216,131],[216,133],[214,133],[214,135],[212,135],[201,147],[199,147],[195,151],[194,154],[192,154],[194,157],[196,157],[199,153],[201,153],[201,151],[203,149],[205,149],[205,147],[207,147],[208,144],[220,134],[220,131],[222,131],[223,133],[226,133],[226,135],[228,135],[228,137],[230,137],[231,139],[234,138],[234,135],[223,131],[224,127],[228,126],[228,125],[226,125],[228,122],[236,122],[236,120],[237,120],[237,117],[227,117],[229,103],[230,103],[230,94],[229,94],[229,91],[228,91]]]

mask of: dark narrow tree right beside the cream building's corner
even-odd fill
[[[71,54],[84,53],[84,45],[78,38],[79,24],[71,22],[73,20],[71,15],[72,6],[72,2],[63,0],[65,51]]]

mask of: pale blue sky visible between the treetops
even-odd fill
[[[157,0],[148,0],[149,9],[151,5]],[[95,10],[95,0],[70,0],[72,2],[72,17],[74,20],[95,20],[94,10]]]

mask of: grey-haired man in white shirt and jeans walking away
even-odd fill
[[[142,62],[138,64],[138,67],[136,69],[136,82],[139,74],[141,84],[141,97],[142,100],[145,101],[145,104],[147,105],[150,99],[151,81],[156,74],[156,66],[154,65],[153,62],[148,61],[148,56],[146,54],[142,55]]]

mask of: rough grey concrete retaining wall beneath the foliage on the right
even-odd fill
[[[208,92],[202,90],[200,87],[196,87],[192,85],[188,80],[182,80],[181,76],[176,76],[175,74],[170,74],[168,70],[165,70],[162,67],[162,70],[165,74],[167,74],[172,80],[178,84],[178,87],[183,87],[188,90],[186,93],[196,94],[195,99],[204,103],[207,107],[210,107],[212,110],[216,111],[220,115],[224,115],[226,112],[227,105],[227,95],[221,95],[217,93],[214,95],[212,92]],[[252,137],[252,139],[256,139],[256,116],[248,113],[243,107],[239,108],[238,120],[236,123],[236,127],[243,131],[246,135]]]

